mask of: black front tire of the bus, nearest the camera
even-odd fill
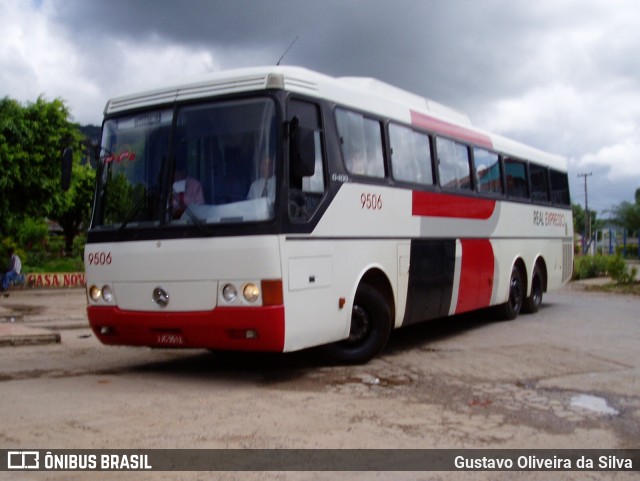
[[[353,301],[349,337],[325,346],[324,354],[331,362],[362,364],[382,351],[390,334],[387,302],[376,289],[361,284]]]

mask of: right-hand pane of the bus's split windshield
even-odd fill
[[[259,98],[178,112],[172,223],[263,221],[275,202],[275,105]]]

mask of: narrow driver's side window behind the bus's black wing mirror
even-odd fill
[[[293,220],[306,220],[314,212],[326,188],[320,108],[310,102],[292,99],[289,103],[289,120],[293,129],[299,129],[300,133],[307,136],[304,155],[313,156],[313,159],[304,159],[307,163],[305,168],[298,165],[290,165],[289,168],[289,217]],[[293,132],[294,141],[296,137],[296,132]],[[293,157],[295,147],[290,150],[290,161],[296,162]],[[311,164],[313,169],[308,168]]]

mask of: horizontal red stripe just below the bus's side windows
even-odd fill
[[[424,217],[486,220],[493,215],[496,201],[438,192],[413,192],[412,214]]]

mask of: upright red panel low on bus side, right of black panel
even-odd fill
[[[462,265],[456,314],[487,307],[493,292],[494,256],[488,239],[461,239]]]

